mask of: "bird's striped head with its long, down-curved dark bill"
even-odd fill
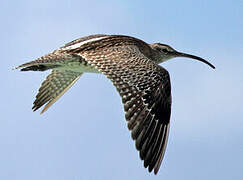
[[[215,69],[214,65],[212,65],[205,59],[200,58],[198,56],[191,55],[191,54],[178,52],[175,49],[173,49],[172,47],[170,47],[169,45],[161,44],[161,43],[154,43],[154,44],[150,44],[150,46],[155,51],[155,54],[156,54],[155,59],[158,61],[157,63],[161,63],[161,62],[164,62],[169,59],[176,58],[176,57],[187,57],[187,58],[201,61],[201,62],[209,65],[211,68]]]

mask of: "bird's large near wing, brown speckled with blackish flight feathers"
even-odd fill
[[[95,51],[75,50],[105,74],[117,88],[140,158],[156,174],[164,156],[171,114],[168,72],[142,54],[136,45]]]

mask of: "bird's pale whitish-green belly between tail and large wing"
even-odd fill
[[[90,66],[87,63],[80,62],[69,62],[61,66],[56,67],[59,70],[70,70],[74,72],[89,72],[89,73],[100,73],[96,68]]]

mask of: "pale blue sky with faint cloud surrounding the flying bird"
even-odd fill
[[[1,1],[0,179],[243,179],[243,1]],[[169,143],[157,176],[143,168],[121,99],[85,74],[46,113],[31,107],[49,72],[12,67],[90,34],[167,43],[177,58]]]

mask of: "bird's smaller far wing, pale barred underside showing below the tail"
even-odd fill
[[[41,84],[32,109],[36,111],[47,103],[41,113],[45,112],[72,87],[81,75],[82,73],[68,70],[52,70],[51,74],[49,74],[46,80]]]

